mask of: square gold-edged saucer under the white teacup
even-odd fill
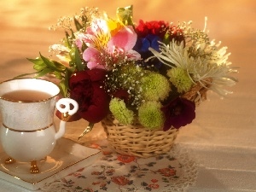
[[[4,161],[9,156],[0,147],[0,178],[26,189],[37,190],[46,183],[54,182],[80,168],[90,166],[99,158],[100,152],[100,149],[84,147],[67,138],[61,138],[51,154],[43,160],[38,160],[40,172],[32,174],[29,162],[5,164]]]

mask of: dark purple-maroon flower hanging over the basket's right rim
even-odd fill
[[[177,97],[172,102],[161,108],[165,113],[166,121],[163,130],[167,131],[172,126],[176,129],[188,125],[195,119],[195,102]]]

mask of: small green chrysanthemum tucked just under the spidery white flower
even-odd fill
[[[183,68],[173,67],[167,71],[167,76],[179,93],[188,91],[193,85],[189,74]]]

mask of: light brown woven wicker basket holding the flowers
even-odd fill
[[[143,158],[169,152],[178,133],[177,129],[148,131],[138,123],[119,125],[111,115],[102,120],[102,126],[109,146],[117,153]]]

